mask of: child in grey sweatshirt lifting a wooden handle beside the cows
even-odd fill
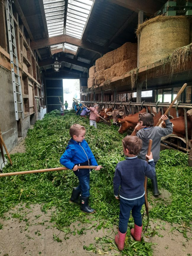
[[[142,140],[142,149],[140,150],[138,157],[145,160],[145,154],[147,153],[148,142],[149,142],[149,139],[152,139],[151,152],[154,158],[154,164],[156,164],[156,162],[159,159],[161,137],[172,133],[172,123],[170,122],[168,117],[162,114],[161,119],[165,121],[166,128],[153,126],[154,120],[150,113],[146,113],[146,112],[139,113],[138,124],[135,127],[136,136]],[[137,129],[139,130],[137,131]],[[151,182],[152,182],[152,188],[153,188],[153,195],[157,196],[159,192],[158,192],[156,175],[151,180]]]

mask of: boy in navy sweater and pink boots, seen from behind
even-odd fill
[[[155,176],[154,160],[152,153],[146,155],[145,160],[137,158],[142,147],[142,140],[136,136],[127,135],[122,140],[125,160],[117,163],[113,177],[113,191],[116,199],[120,199],[120,213],[118,233],[114,241],[119,250],[124,249],[124,241],[130,211],[134,219],[134,228],[130,230],[136,241],[141,240],[142,217],[140,210],[144,203],[144,178]],[[119,189],[120,187],[120,189]]]

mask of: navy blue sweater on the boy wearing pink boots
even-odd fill
[[[117,163],[113,177],[114,195],[133,199],[144,194],[144,177],[150,179],[155,176],[154,161],[148,163],[135,157],[126,157],[126,160]]]

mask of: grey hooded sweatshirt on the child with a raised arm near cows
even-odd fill
[[[152,139],[151,152],[154,162],[158,161],[160,154],[160,139],[163,136],[172,133],[172,123],[169,119],[165,120],[166,128],[161,128],[159,126],[151,126],[149,128],[142,128],[137,131],[136,136],[142,140],[142,148],[138,155],[139,158],[145,160],[145,154],[148,149],[149,139]]]

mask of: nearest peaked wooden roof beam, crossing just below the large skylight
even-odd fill
[[[78,39],[78,38],[75,38],[71,35],[66,35],[66,34],[56,35],[56,36],[52,36],[52,37],[32,41],[30,43],[30,47],[32,49],[39,49],[39,48],[43,48],[43,47],[47,47],[47,46],[50,46],[50,45],[59,44],[59,43],[63,43],[63,42],[67,42],[67,43],[70,43],[72,45],[78,46],[80,48],[95,51],[95,52],[98,52],[98,53],[106,53],[107,51],[109,51],[108,47],[104,48],[100,45],[97,45],[95,43],[90,43],[90,42],[87,42],[87,41],[82,42],[81,39]]]

